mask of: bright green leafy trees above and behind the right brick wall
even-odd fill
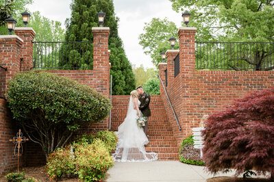
[[[273,0],[170,1],[173,3],[173,10],[187,10],[191,13],[188,27],[197,27],[196,42],[274,42]],[[153,18],[150,23],[145,24],[144,31],[144,34],[140,34],[139,43],[145,53],[151,56],[153,64],[158,66],[161,62],[160,52],[170,49],[167,40],[171,35],[177,38],[177,28],[166,19]],[[223,65],[223,68],[234,70],[274,68],[273,44],[239,45],[209,44],[207,51],[199,53],[200,60],[196,60],[196,63],[205,64],[205,68],[219,68]],[[204,44],[201,47],[205,47]],[[218,62],[216,57],[219,57]]]

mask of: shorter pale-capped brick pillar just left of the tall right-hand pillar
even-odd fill
[[[174,79],[174,59],[179,53],[179,50],[167,50],[166,51],[166,66],[167,66],[167,80],[168,83],[172,83]],[[168,85],[169,86],[169,85]]]

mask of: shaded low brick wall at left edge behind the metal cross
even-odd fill
[[[9,141],[16,136],[17,132],[18,127],[12,120],[7,101],[0,99],[0,175],[7,170],[17,168],[17,157],[14,156],[15,144]],[[23,149],[25,150],[25,144]],[[25,164],[25,153],[20,157],[19,162],[20,166]]]

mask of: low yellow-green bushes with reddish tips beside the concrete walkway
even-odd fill
[[[81,135],[72,144],[49,155],[49,179],[79,177],[84,181],[100,181],[114,164],[110,151],[116,144],[117,137],[112,131]]]

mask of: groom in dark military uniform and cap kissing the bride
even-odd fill
[[[145,116],[145,118],[147,118],[147,122],[148,122],[149,116],[151,116],[151,112],[149,109],[150,96],[149,94],[144,92],[144,90],[142,89],[142,86],[138,86],[136,90],[139,94],[138,96],[138,99],[140,101],[139,109],[142,112],[142,114]],[[147,122],[145,122],[145,127],[144,127],[144,131],[146,135],[147,135]]]

